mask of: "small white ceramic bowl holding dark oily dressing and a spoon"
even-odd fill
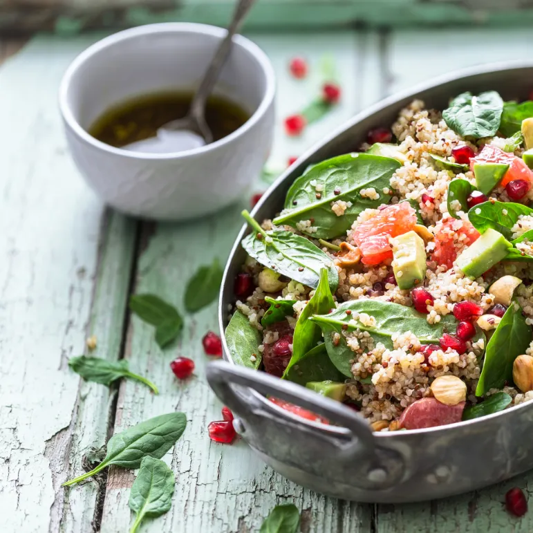
[[[180,153],[114,148],[86,131],[102,112],[137,95],[198,85],[225,30],[205,24],[150,24],[98,41],[68,67],[59,88],[66,137],[95,192],[122,212],[179,220],[234,202],[258,176],[274,131],[274,71],[252,41],[234,37],[214,93],[251,114],[239,129]]]

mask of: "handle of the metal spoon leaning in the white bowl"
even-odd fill
[[[255,0],[239,0],[239,3],[237,3],[232,22],[227,28],[227,35],[224,37],[220,46],[218,46],[218,50],[216,50],[211,64],[209,64],[209,67],[207,67],[207,71],[205,72],[202,83],[200,84],[200,88],[198,88],[198,91],[196,91],[194,100],[191,103],[190,115],[194,117],[203,117],[207,96],[209,96],[209,93],[211,93],[212,88],[218,79],[218,74],[220,73],[221,68],[224,66],[227,56],[230,54],[233,36],[241,27],[241,24],[243,23],[254,1]]]

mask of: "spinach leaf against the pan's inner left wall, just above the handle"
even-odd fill
[[[236,310],[227,324],[224,333],[227,349],[230,350],[235,364],[247,366],[256,370],[261,364],[261,352],[259,344],[263,342],[263,337],[252,324],[246,315]],[[253,361],[250,357],[255,357]]]

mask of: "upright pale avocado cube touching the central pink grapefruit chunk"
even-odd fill
[[[410,289],[426,277],[426,248],[424,240],[414,231],[391,240],[393,271],[398,287]]]

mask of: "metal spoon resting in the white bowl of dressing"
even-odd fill
[[[248,11],[255,0],[239,0],[233,14],[227,35],[222,40],[218,50],[207,67],[202,83],[196,91],[189,108],[189,113],[184,118],[171,120],[156,133],[156,137],[139,140],[122,147],[126,150],[150,153],[172,153],[185,151],[204,146],[213,142],[213,134],[205,121],[205,104],[211,93],[218,75],[224,66],[230,50],[232,39],[241,27]]]

